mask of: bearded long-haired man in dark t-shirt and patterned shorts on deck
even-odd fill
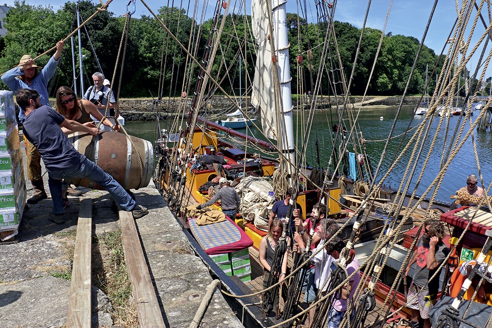
[[[448,247],[442,242],[444,236],[444,225],[441,221],[425,221],[424,234],[417,242],[417,250],[406,268],[405,275],[408,275],[410,266],[417,263],[408,291],[407,306],[412,310],[412,321],[418,320],[419,327],[431,327],[429,311],[436,302],[439,290],[440,270],[437,269],[449,252]]]

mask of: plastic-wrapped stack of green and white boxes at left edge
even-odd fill
[[[14,94],[0,91],[0,232],[2,240],[16,235],[26,205]],[[11,233],[9,233],[11,232]]]

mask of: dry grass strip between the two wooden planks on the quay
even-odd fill
[[[124,263],[121,230],[111,231],[93,239],[92,285],[103,291],[113,305],[113,324],[139,327],[131,298],[131,284]]]

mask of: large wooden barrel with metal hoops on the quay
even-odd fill
[[[75,149],[111,175],[124,189],[138,189],[146,187],[152,178],[154,149],[147,140],[133,136],[130,139],[123,133],[111,131],[102,132],[97,137],[82,132],[68,136],[68,141]],[[138,154],[142,160],[142,168]],[[90,179],[71,179],[70,183],[103,189]]]

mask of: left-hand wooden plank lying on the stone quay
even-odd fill
[[[92,199],[80,202],[66,327],[91,327]]]

